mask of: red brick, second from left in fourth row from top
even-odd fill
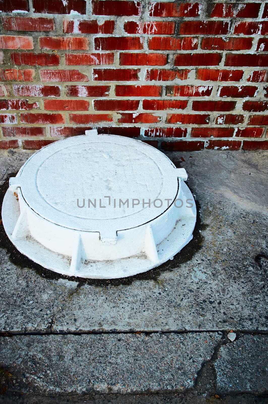
[[[65,55],[65,64],[71,66],[111,65],[113,64],[113,53],[67,54]]]

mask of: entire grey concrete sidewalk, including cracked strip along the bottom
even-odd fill
[[[2,184],[29,155],[1,153]],[[268,402],[268,152],[168,156],[200,212],[157,269],[67,279],[1,229],[0,403]]]

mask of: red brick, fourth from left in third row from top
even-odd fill
[[[168,36],[156,36],[149,38],[150,50],[193,50],[197,49],[198,39],[191,37],[172,38]]]

